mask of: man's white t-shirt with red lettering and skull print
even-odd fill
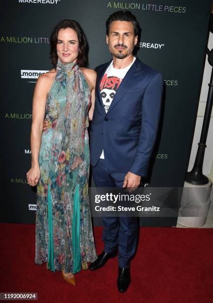
[[[113,98],[115,97],[116,91],[118,90],[122,80],[126,76],[135,59],[136,58],[134,57],[131,64],[125,68],[114,68],[112,61],[104,73],[104,76],[100,82],[100,94],[106,113],[113,101]],[[102,151],[100,158],[104,159],[104,151]]]

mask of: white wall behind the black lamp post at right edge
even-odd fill
[[[209,36],[209,42],[208,42],[208,48],[209,50],[213,49],[213,34],[210,33]],[[201,88],[201,95],[200,95],[200,101],[199,101],[199,107],[198,107],[198,114],[197,114],[197,121],[196,121],[196,127],[195,127],[195,133],[193,138],[193,144],[192,144],[192,150],[189,160],[189,166],[188,171],[190,171],[194,165],[195,156],[198,148],[198,143],[200,141],[201,136],[201,130],[202,130],[202,124],[204,119],[204,113],[206,108],[206,101],[209,91],[208,84],[210,83],[210,77],[212,72],[212,66],[209,64],[207,57],[206,57],[206,63],[205,63],[205,69],[204,69],[204,75],[203,75],[203,82],[202,82],[202,88]],[[203,165],[203,173],[205,175],[208,175],[208,177],[213,181],[213,111],[209,126],[209,133],[207,137],[207,147],[205,151],[205,157],[204,157],[204,165]]]

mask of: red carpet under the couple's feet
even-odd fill
[[[0,292],[37,292],[39,302],[213,302],[213,229],[141,228],[128,291],[117,290],[117,258],[76,274],[76,286],[60,272],[34,263],[35,225],[0,224]],[[97,253],[102,228],[95,228]]]

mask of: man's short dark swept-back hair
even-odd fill
[[[134,35],[139,36],[140,34],[140,26],[136,19],[136,17],[129,10],[119,10],[114,12],[109,18],[106,20],[106,34],[109,36],[110,25],[113,21],[128,21],[132,22],[134,27]]]

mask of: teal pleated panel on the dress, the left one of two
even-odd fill
[[[54,266],[54,251],[53,251],[53,227],[52,227],[52,200],[50,195],[50,188],[48,184],[48,194],[47,194],[47,202],[48,202],[48,269],[51,268],[51,271],[55,272]]]

